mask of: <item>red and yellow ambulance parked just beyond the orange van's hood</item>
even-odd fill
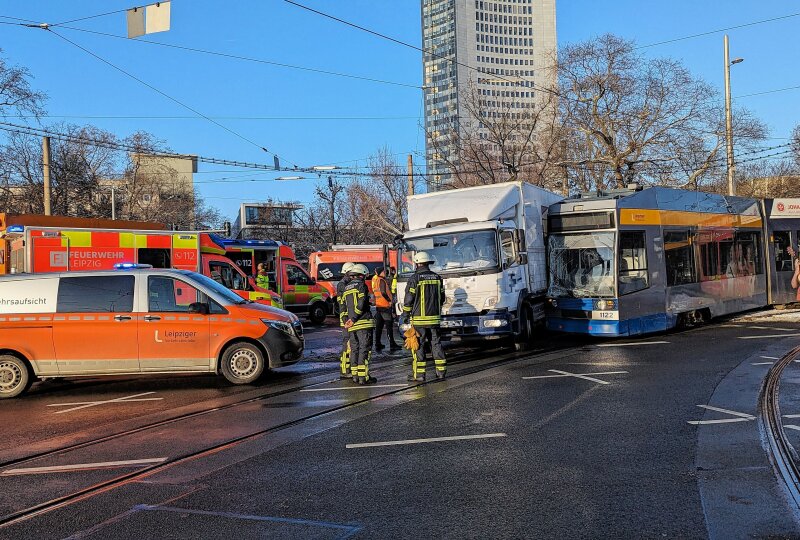
[[[215,238],[225,247],[225,255],[249,276],[255,278],[258,265],[266,265],[270,288],[278,291],[284,309],[306,316],[312,324],[322,324],[333,313],[330,293],[308,275],[291,247],[275,240]]]

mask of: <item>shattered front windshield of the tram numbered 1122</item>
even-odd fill
[[[550,288],[554,298],[615,296],[613,232],[552,234]]]

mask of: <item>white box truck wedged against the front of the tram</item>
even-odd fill
[[[431,269],[445,286],[445,339],[506,338],[517,349],[527,346],[544,319],[547,208],[562,199],[526,182],[408,198],[410,230],[398,239],[398,260],[411,261],[418,251],[435,259]],[[400,314],[413,268],[398,266]]]

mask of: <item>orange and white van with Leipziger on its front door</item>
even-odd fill
[[[188,270],[0,276],[0,398],[46,377],[216,373],[250,384],[303,346],[297,316]]]

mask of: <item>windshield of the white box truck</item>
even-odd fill
[[[500,268],[495,230],[411,238],[405,242],[402,258],[413,261],[419,251],[433,257],[431,269],[440,274],[488,274]],[[409,266],[402,265],[403,273],[413,272]]]

